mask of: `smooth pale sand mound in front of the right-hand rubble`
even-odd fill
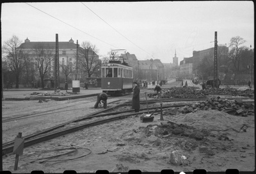
[[[191,125],[196,129],[240,129],[244,124],[243,118],[216,110],[197,111],[173,119],[173,122]]]

